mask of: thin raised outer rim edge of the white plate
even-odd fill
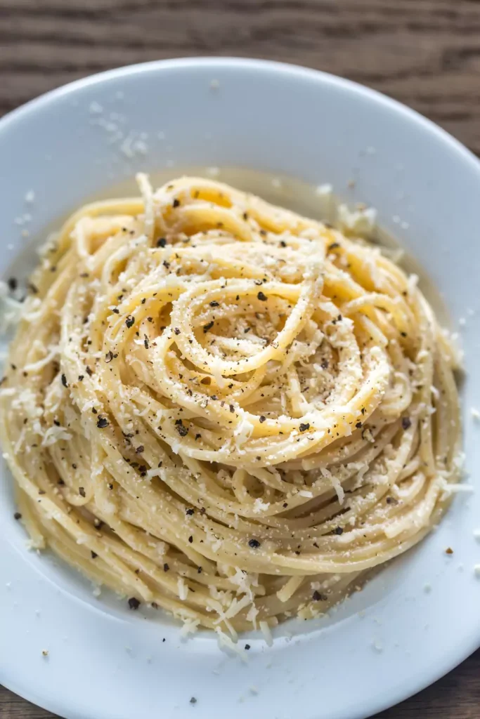
[[[436,137],[438,141],[443,142],[445,146],[449,147],[450,150],[455,152],[456,155],[458,155],[458,157],[463,160],[463,162],[466,162],[467,165],[471,168],[471,170],[474,170],[476,173],[478,173],[480,180],[480,160],[478,157],[476,157],[476,155],[474,155],[473,152],[471,152],[471,150],[468,150],[468,148],[463,145],[458,139],[453,137],[445,129],[439,127],[437,124],[435,124],[435,122],[431,121],[430,119],[427,119],[425,116],[422,116],[422,114],[415,111],[414,109],[405,106],[401,102],[392,99],[391,97],[386,96],[379,91],[363,86],[356,81],[351,81],[347,78],[342,78],[338,75],[333,75],[332,73],[327,73],[323,70],[305,68],[302,65],[283,63],[276,60],[238,58],[230,56],[191,56],[182,58],[170,58],[165,60],[152,60],[145,63],[124,65],[119,68],[104,70],[101,73],[88,75],[85,78],[79,78],[78,80],[72,81],[58,88],[54,88],[53,90],[47,91],[46,93],[42,93],[42,95],[38,96],[37,98],[27,101],[27,103],[22,104],[22,106],[19,106],[17,109],[9,111],[9,113],[1,117],[0,145],[3,142],[2,132],[13,128],[15,124],[17,124],[17,122],[21,121],[22,119],[35,119],[35,113],[37,111],[41,111],[45,106],[55,104],[56,101],[64,98],[65,96],[70,96],[71,94],[74,94],[77,91],[82,90],[83,88],[101,86],[105,81],[109,81],[111,79],[117,80],[119,78],[130,77],[132,75],[139,75],[143,73],[156,73],[158,70],[161,70],[162,72],[178,69],[189,70],[199,68],[199,66],[203,68],[212,68],[212,70],[222,70],[225,68],[230,68],[234,70],[253,70],[260,68],[261,70],[263,70],[264,73],[280,75],[290,80],[295,80],[296,78],[303,78],[312,80],[317,83],[320,81],[324,85],[342,88],[343,91],[349,93],[352,96],[361,96],[364,99],[371,101],[372,104],[384,106],[384,108],[393,111],[399,116],[402,116],[405,122],[416,124],[417,126],[422,127],[433,137]],[[474,652],[479,647],[479,645],[480,637],[471,636],[471,641],[468,644],[466,644],[465,642],[463,642],[462,644],[458,644],[455,652],[452,651],[448,656],[439,659],[438,663],[435,664],[434,670],[428,669],[425,674],[422,674],[422,677],[417,678],[416,682],[409,682],[408,688],[406,688],[403,683],[400,683],[399,685],[397,685],[397,687],[392,687],[391,692],[389,693],[389,698],[384,697],[383,699],[377,698],[376,700],[371,700],[371,704],[368,710],[370,711],[373,707],[374,712],[377,713],[381,710],[385,710],[386,708],[391,707],[393,705],[392,702],[396,704],[397,702],[401,702],[409,697],[412,697],[412,695],[415,695],[417,694],[417,692],[420,692],[421,690],[430,686],[430,684],[433,684],[433,682],[436,682],[438,679],[440,679],[452,669],[457,667],[458,664],[460,664],[461,661],[464,661],[468,656],[470,656],[472,652]],[[38,704],[40,697],[37,697],[35,695],[35,692],[24,691],[24,687],[22,685],[15,685],[12,682],[7,682],[4,685],[7,688],[11,688],[14,692],[19,692],[20,695],[22,697],[25,697],[27,700]],[[42,703],[40,702],[40,706],[41,705]],[[49,708],[50,710],[55,711],[55,701],[49,702]],[[56,707],[57,711],[62,711],[62,708],[64,709],[65,707]],[[365,715],[363,713],[359,713],[356,716],[360,718]]]

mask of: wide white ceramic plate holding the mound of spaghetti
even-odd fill
[[[438,127],[366,88],[259,60],[193,59],[114,70],[33,101],[0,122],[1,273],[24,270],[22,230],[37,236],[137,170],[173,176],[192,165],[329,182],[345,197],[356,180],[353,198],[379,210],[461,325],[475,483],[480,165]],[[168,620],[96,599],[89,582],[28,552],[5,468],[0,491],[0,682],[69,719],[359,719],[480,644],[478,493],[459,495],[438,531],[329,620],[296,624],[292,637],[281,627],[271,648],[249,639],[242,664],[208,633],[183,642]]]

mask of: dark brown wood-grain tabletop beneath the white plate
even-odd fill
[[[0,0],[0,114],[84,75],[181,55],[270,58],[343,75],[412,106],[480,155],[480,0]],[[52,716],[0,687],[1,719]],[[480,651],[377,716],[430,718],[480,718]]]

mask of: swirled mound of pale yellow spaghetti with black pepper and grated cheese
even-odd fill
[[[22,521],[192,627],[324,613],[448,504],[445,337],[373,245],[217,182],[139,184],[32,276],[0,390]]]

